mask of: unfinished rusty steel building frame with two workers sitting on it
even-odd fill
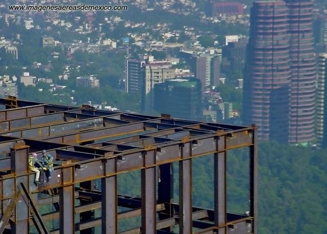
[[[141,215],[140,227],[121,233],[256,233],[256,128],[203,123],[90,106],[67,107],[0,99],[0,233],[118,233],[118,220]],[[249,148],[250,210],[226,210],[226,154]],[[53,178],[35,186],[28,155],[46,149]],[[214,155],[214,207],[192,205],[192,159]],[[173,162],[179,165],[179,204],[173,203]],[[121,173],[141,171],[141,196],[117,192]],[[101,190],[94,180],[101,180]],[[139,179],[139,178],[135,178]],[[46,197],[39,198],[41,190]],[[158,192],[157,192],[158,191]],[[80,199],[80,205],[75,200]],[[39,206],[55,207],[40,214]],[[119,207],[129,210],[119,212]],[[101,209],[95,218],[94,210]],[[76,221],[80,214],[80,222]],[[46,222],[59,219],[57,230]]]

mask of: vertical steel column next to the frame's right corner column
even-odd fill
[[[218,136],[217,152],[214,154],[214,194],[215,194],[215,226],[223,226],[227,222],[226,209],[226,135]],[[225,228],[218,233],[225,233]]]

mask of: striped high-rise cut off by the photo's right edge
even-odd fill
[[[327,148],[327,54],[320,54],[318,61],[318,82],[316,99],[317,147]]]

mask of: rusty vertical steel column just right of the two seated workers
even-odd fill
[[[61,171],[62,186],[59,189],[60,234],[75,233],[75,194],[73,182],[74,168]],[[69,185],[65,185],[68,183]]]

